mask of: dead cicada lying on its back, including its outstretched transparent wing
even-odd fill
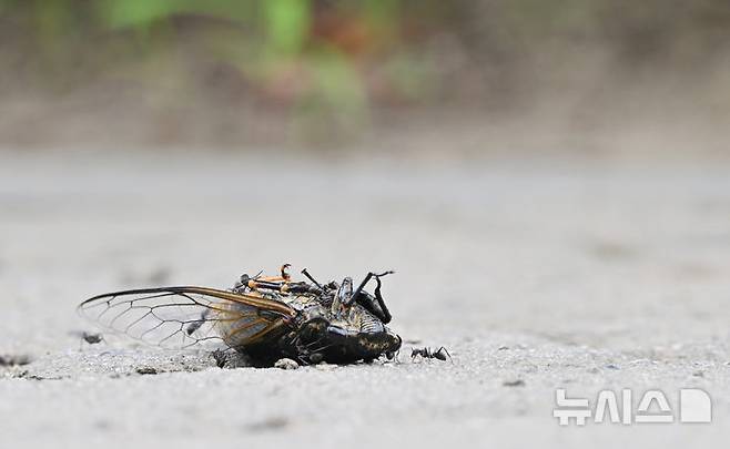
[[[402,339],[386,325],[392,316],[381,294],[381,278],[393,272],[353,279],[293,282],[282,266],[278,276],[246,274],[231,289],[195,286],[107,293],[84,300],[81,315],[103,328],[161,347],[187,348],[206,341],[246,355],[257,366],[280,358],[310,365],[392,359]],[[371,280],[373,293],[365,289]]]

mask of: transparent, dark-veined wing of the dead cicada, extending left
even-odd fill
[[[189,348],[210,340],[243,347],[296,314],[272,298],[206,287],[108,293],[81,303],[79,312],[109,330],[164,348]]]

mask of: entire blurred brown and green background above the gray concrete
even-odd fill
[[[0,0],[0,145],[721,154],[730,3]]]

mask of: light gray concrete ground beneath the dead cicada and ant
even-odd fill
[[[729,169],[0,153],[0,446],[724,447]],[[401,363],[220,369],[113,335],[80,345],[91,295],[227,287],[283,262],[396,269]],[[413,363],[425,345],[454,363]],[[676,409],[685,387],[710,394],[711,425],[552,417],[556,388],[661,389]]]

